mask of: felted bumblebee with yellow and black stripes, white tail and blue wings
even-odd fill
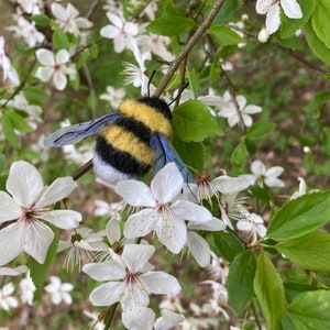
[[[94,168],[110,184],[139,178],[151,167],[157,170],[168,162],[177,164],[185,180],[191,176],[168,141],[172,112],[160,98],[127,100],[114,113],[54,132],[45,145],[74,144],[97,133]]]

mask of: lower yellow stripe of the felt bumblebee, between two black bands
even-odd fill
[[[122,127],[111,124],[106,127],[100,134],[114,148],[129,153],[142,164],[152,164],[153,150],[132,132],[127,131]]]

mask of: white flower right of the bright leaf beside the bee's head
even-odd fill
[[[242,123],[249,128],[252,125],[253,120],[250,114],[258,113],[262,111],[262,108],[258,106],[246,106],[246,99],[242,95],[235,97],[239,109],[235,108],[233,102],[228,103],[227,107],[222,108],[219,111],[219,116],[227,118],[228,124],[232,128],[235,124]],[[240,113],[238,113],[238,110]]]

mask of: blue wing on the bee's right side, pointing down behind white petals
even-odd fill
[[[158,172],[167,163],[174,162],[186,184],[196,183],[195,177],[188,170],[179,154],[163,134],[153,134],[150,144],[154,150],[153,168],[155,172]]]

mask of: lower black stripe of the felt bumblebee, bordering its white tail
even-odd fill
[[[101,135],[99,135],[97,139],[95,150],[105,163],[130,176],[143,176],[151,168],[151,164],[140,163],[134,156],[132,156],[128,152],[114,148]]]

